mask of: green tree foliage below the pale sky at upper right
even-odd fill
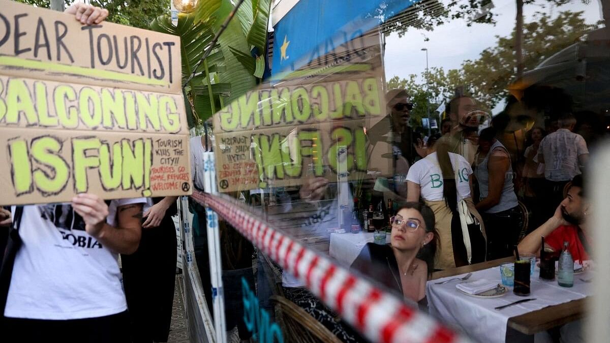
[[[531,23],[523,24],[525,71],[533,70],[556,52],[580,42],[595,27],[586,24],[583,12],[561,12],[556,18],[536,13]],[[492,109],[509,96],[507,88],[515,81],[514,35],[512,32],[508,37],[498,37],[495,46],[484,49],[476,60],[465,60],[459,69],[445,71],[442,67],[433,67],[421,74],[420,82],[414,74],[402,80],[395,76],[388,81],[388,87],[405,88],[415,97],[429,90],[434,104],[453,97],[456,88],[464,88],[482,109]]]

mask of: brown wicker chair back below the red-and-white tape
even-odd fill
[[[295,343],[341,343],[324,325],[310,316],[304,309],[287,298],[273,295],[271,303],[276,308],[276,316],[286,342]]]

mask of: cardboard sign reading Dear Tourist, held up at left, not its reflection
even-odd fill
[[[179,45],[0,1],[0,204],[189,194]]]

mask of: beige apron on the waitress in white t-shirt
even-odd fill
[[[485,226],[483,225],[483,218],[481,218],[479,212],[476,211],[475,203],[472,202],[472,198],[465,198],[464,201],[468,205],[468,210],[470,213],[479,220],[479,223],[481,223],[481,231],[483,231],[483,236],[485,237],[485,240],[487,240]],[[453,219],[453,214],[451,214],[451,210],[447,207],[445,200],[426,200],[425,202],[432,209],[432,212],[434,212],[436,229],[439,231],[440,247],[437,249],[437,256],[434,260],[434,268],[453,268],[456,266],[453,258],[453,239],[451,239],[451,220]]]

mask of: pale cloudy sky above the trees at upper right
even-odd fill
[[[531,18],[534,12],[551,13],[554,18],[564,10],[584,11],[587,23],[595,23],[602,18],[599,1],[590,0],[589,4],[583,4],[581,0],[575,0],[572,4],[551,8],[546,0],[537,0],[536,4],[525,5],[523,13],[525,22],[528,22],[528,18]],[[426,52],[421,51],[422,48],[428,49],[429,67],[443,67],[445,71],[460,68],[464,60],[478,59],[481,51],[496,45],[497,35],[508,36],[515,25],[515,1],[493,2],[496,7],[492,12],[498,13],[495,26],[473,24],[467,27],[464,20],[454,20],[436,27],[434,31],[409,29],[400,38],[398,34],[391,34],[386,38],[384,60],[386,79],[393,76],[407,78],[409,74],[420,74],[425,71]],[[545,5],[544,9],[541,4]],[[425,42],[425,37],[429,38],[428,42]]]

